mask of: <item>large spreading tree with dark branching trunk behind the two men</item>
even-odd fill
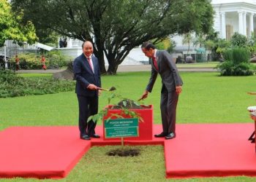
[[[213,23],[210,0],[12,0],[36,28],[94,43],[94,54],[109,74],[143,41],[174,33],[207,33]]]

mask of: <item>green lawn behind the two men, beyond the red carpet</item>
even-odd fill
[[[179,97],[177,123],[252,122],[247,106],[255,106],[255,76],[222,77],[218,73],[181,73],[184,81]],[[115,86],[124,97],[137,100],[146,88],[148,72],[102,76],[102,87]],[[159,98],[161,81],[144,100],[154,105],[154,123],[161,123]],[[99,108],[107,105],[102,92]],[[76,125],[78,101],[74,92],[0,99],[0,130],[10,126]]]

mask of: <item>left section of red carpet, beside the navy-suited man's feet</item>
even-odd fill
[[[64,178],[91,147],[78,127],[10,127],[0,132],[0,177]]]

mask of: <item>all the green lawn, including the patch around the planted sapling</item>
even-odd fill
[[[177,123],[252,122],[246,108],[256,106],[256,96],[247,95],[246,92],[256,92],[256,76],[218,75],[218,73],[181,73],[184,87],[178,102]],[[148,72],[102,76],[102,87],[115,86],[118,93],[124,97],[137,100],[143,93],[149,76]],[[153,92],[145,100],[145,104],[154,105],[154,123],[161,122],[160,90],[161,83],[158,78]],[[106,104],[106,92],[103,92],[99,99],[99,107],[103,108]],[[78,125],[78,101],[75,91],[0,98],[0,108],[0,130],[11,126]],[[67,178],[60,181],[168,181],[165,179],[162,146],[138,146],[142,151],[140,157],[107,157],[106,151],[114,147],[93,147]],[[24,179],[0,179],[0,181],[24,181]],[[187,181],[255,181],[255,178],[190,178]]]

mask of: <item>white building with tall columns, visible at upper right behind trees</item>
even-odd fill
[[[235,32],[246,37],[256,33],[256,0],[212,0],[214,8],[214,31],[222,39],[230,40]],[[183,36],[174,36],[177,55],[187,54],[188,44],[182,44]],[[190,44],[189,54],[195,53]]]

